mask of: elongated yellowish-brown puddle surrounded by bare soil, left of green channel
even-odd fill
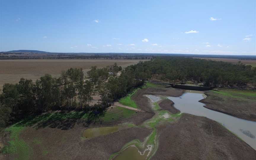
[[[89,128],[84,130],[83,137],[93,138],[100,135],[107,135],[109,133],[117,132],[120,129],[121,126]]]

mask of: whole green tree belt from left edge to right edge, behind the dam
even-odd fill
[[[244,64],[207,61],[196,58],[158,57],[122,68],[92,66],[84,77],[82,68],[63,71],[59,78],[45,74],[33,82],[20,79],[18,84],[4,84],[0,95],[0,128],[17,121],[20,115],[33,115],[50,110],[83,110],[104,114],[113,102],[152,77],[171,83],[195,81],[204,86],[256,88],[256,68]],[[92,95],[100,96],[91,106]]]

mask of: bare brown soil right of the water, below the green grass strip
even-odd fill
[[[252,99],[224,98],[214,92],[205,92],[207,98],[200,100],[205,108],[245,120],[256,121],[256,101]]]

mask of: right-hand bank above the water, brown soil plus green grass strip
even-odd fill
[[[200,100],[206,108],[245,120],[256,121],[256,92],[232,89],[206,91],[207,98]]]

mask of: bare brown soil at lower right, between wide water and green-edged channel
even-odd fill
[[[159,148],[152,159],[246,159],[256,151],[216,121],[184,114],[158,128]]]

